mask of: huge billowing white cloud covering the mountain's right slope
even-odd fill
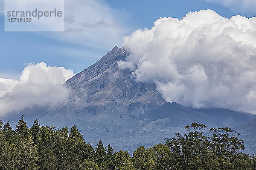
[[[165,17],[124,38],[119,68],[154,81],[167,101],[195,108],[256,112],[256,17],[215,11]]]

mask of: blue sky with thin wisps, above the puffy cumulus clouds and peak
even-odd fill
[[[122,37],[138,28],[150,28],[159,17],[181,18],[189,11],[201,9],[212,9],[223,17],[236,14],[246,17],[256,16],[255,11],[250,7],[239,8],[237,4],[230,5],[218,0],[98,0],[94,3],[96,4],[89,7],[92,8],[93,13],[88,16],[91,20],[94,20],[94,17],[97,17],[95,20],[106,20],[108,23],[106,31],[102,31],[99,26],[93,28],[92,24],[92,28],[86,30],[84,34],[68,31],[8,32],[4,31],[4,17],[3,14],[0,15],[0,77],[18,79],[26,64],[38,62],[63,66],[74,70],[76,74],[96,62],[115,45],[122,46]],[[74,6],[80,6],[79,0]],[[65,7],[65,11],[73,13],[68,6]],[[84,14],[84,11],[76,11],[76,14],[80,13]],[[80,17],[79,20],[87,22],[87,19],[88,17]],[[104,25],[102,27],[104,29]],[[99,35],[98,30],[102,34]]]

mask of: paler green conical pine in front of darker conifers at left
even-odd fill
[[[28,134],[27,138],[23,138],[21,141],[21,149],[19,150],[18,161],[20,170],[38,170],[38,150],[36,145],[33,144],[31,134]]]

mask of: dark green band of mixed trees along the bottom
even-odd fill
[[[150,148],[140,146],[132,156],[101,141],[94,148],[76,125],[56,129],[35,120],[27,127],[23,116],[15,130],[0,122],[0,170],[255,170],[256,157],[244,150],[239,133],[229,127],[208,129],[192,123],[186,134]]]

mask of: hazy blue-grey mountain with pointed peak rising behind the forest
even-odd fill
[[[132,153],[140,145],[151,147],[176,132],[185,132],[183,127],[192,122],[234,127],[256,119],[255,115],[228,109],[195,110],[166,102],[154,82],[137,82],[130,70],[118,68],[118,61],[127,56],[124,48],[115,46],[98,62],[67,80],[70,96],[66,105],[29,108],[23,111],[26,120],[32,122],[38,116],[42,125],[76,124],[84,139],[94,146],[101,139],[116,150]]]

